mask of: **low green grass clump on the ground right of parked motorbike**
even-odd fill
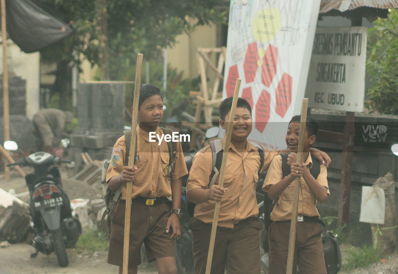
[[[76,243],[76,252],[92,254],[96,251],[107,251],[109,248],[108,236],[98,231],[96,227],[84,231]]]

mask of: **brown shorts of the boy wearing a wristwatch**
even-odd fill
[[[115,204],[111,223],[108,263],[123,266],[124,224],[126,201],[119,199]],[[144,205],[131,203],[129,268],[141,263],[141,246],[145,244],[148,262],[156,258],[175,257],[174,240],[170,239],[173,229],[166,233],[166,223],[170,217],[171,204]]]

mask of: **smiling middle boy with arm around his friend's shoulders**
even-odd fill
[[[220,125],[223,129],[227,127],[231,106],[232,97],[220,104]],[[261,272],[259,230],[262,223],[257,217],[256,200],[260,157],[257,147],[247,141],[251,131],[252,109],[246,100],[238,98],[223,188],[218,186],[219,179],[208,188],[212,171],[210,146],[199,151],[193,159],[187,182],[187,200],[197,204],[194,217],[189,221],[196,274],[204,274],[206,270],[216,201],[221,201],[221,204],[211,273],[224,273],[225,267],[228,274]],[[264,151],[263,170],[266,170],[281,151]],[[328,159],[328,156],[324,155],[324,158]]]

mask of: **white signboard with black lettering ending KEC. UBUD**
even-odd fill
[[[317,27],[305,96],[308,107],[363,111],[367,27]]]

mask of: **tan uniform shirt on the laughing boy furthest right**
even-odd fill
[[[311,154],[308,153],[307,160],[304,162],[307,169],[312,168]],[[328,180],[327,180],[326,166],[320,164],[320,172],[316,181],[321,186],[326,186],[328,188],[328,196],[330,195]],[[263,184],[263,191],[268,192],[269,188],[273,184],[277,184],[282,180],[282,157],[278,155],[272,160],[271,165],[268,168],[267,176],[265,177]],[[304,215],[308,217],[320,217],[318,209],[316,209],[316,203],[314,195],[312,195],[310,189],[308,188],[306,182],[302,177],[300,177],[300,192],[298,196],[298,215]],[[271,212],[270,218],[272,221],[288,221],[292,217],[292,206],[293,206],[293,191],[295,188],[295,181],[291,182],[289,187],[283,190],[282,194],[279,196],[277,204]]]

